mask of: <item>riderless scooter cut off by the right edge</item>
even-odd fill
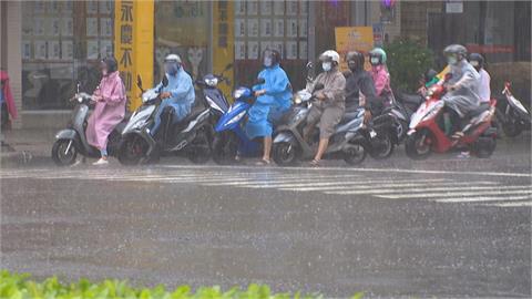
[[[510,86],[510,82],[504,83],[502,94],[505,100],[503,103],[505,102],[507,105],[502,109],[504,112],[499,109],[497,110],[497,118],[504,134],[509,137],[515,137],[521,134],[523,130],[530,130],[532,121],[530,112],[513,96]]]

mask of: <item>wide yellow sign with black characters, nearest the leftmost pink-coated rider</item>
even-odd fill
[[[153,85],[153,0],[115,0],[114,53],[130,100],[130,110],[141,105],[136,76],[144,87]]]

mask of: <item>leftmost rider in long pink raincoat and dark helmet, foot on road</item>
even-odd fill
[[[108,136],[114,127],[124,118],[125,114],[125,87],[114,58],[106,58],[100,64],[102,81],[93,94],[96,102],[94,112],[86,125],[86,141],[90,145],[100,150],[102,157],[93,165],[108,164]]]

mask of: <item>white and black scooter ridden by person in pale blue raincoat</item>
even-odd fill
[[[183,154],[196,164],[207,162],[211,155],[211,109],[195,109],[177,124],[173,124],[173,110],[168,109],[161,116],[156,141],[150,128],[162,102],[162,89],[168,84],[168,80],[164,76],[158,90],[144,91],[140,76],[136,84],[142,91],[142,105],[133,113],[122,132],[119,161],[124,165],[136,165],[155,162],[161,155]]]

